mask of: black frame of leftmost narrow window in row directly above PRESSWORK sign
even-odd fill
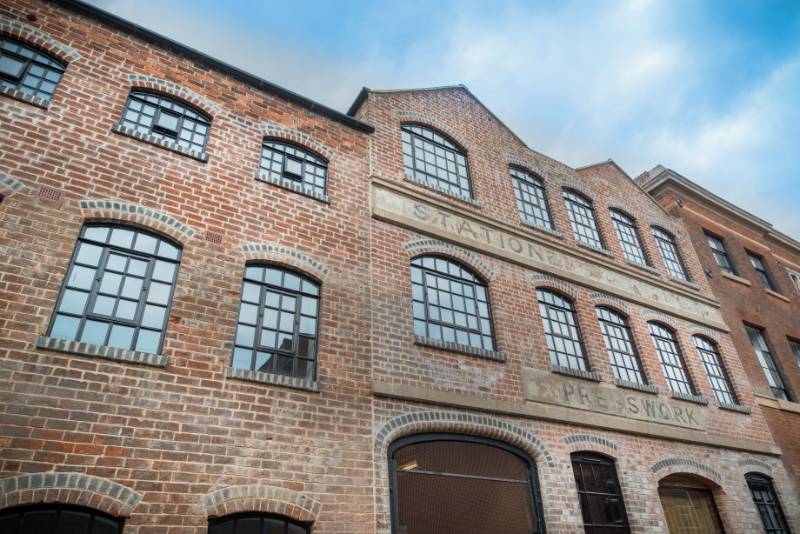
[[[548,302],[545,300],[545,296],[551,296],[550,300],[553,302]],[[555,299],[559,299],[568,306],[564,306],[556,302]],[[545,342],[547,344],[547,354],[550,358],[550,363],[559,368],[591,372],[592,367],[589,364],[586,345],[583,342],[583,334],[581,332],[575,301],[563,293],[549,287],[539,287],[536,289],[536,302],[539,305],[539,315],[542,318],[542,328],[544,329]],[[566,323],[558,319],[559,314],[563,314],[567,318]],[[572,318],[572,323],[574,324],[570,324],[570,317]],[[557,324],[558,328],[554,328],[554,324]],[[569,330],[570,336],[562,335],[564,326],[566,326],[567,330]],[[575,330],[574,336],[572,335],[572,329]],[[577,347],[580,351],[580,354],[569,354],[568,352],[560,350],[559,343],[557,342],[558,340],[562,340],[561,345],[564,347],[567,346],[567,343],[569,343],[573,348]],[[560,355],[564,355],[567,365],[562,365]],[[578,365],[578,367],[571,365],[570,360],[572,358],[574,358],[577,362],[583,362],[583,368],[580,365]],[[553,361],[554,359],[555,361]]]

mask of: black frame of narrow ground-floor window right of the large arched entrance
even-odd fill
[[[617,474],[617,465],[616,462],[604,455],[597,452],[592,451],[578,451],[573,452],[570,454],[570,464],[572,465],[572,473],[575,478],[575,489],[578,494],[578,501],[581,506],[581,519],[583,521],[583,527],[586,534],[608,534],[609,532],[622,532],[624,534],[630,534],[630,524],[628,522],[628,514],[625,510],[625,498],[622,495],[622,486],[619,483],[619,476]],[[595,492],[595,491],[588,491],[586,490],[586,483],[584,480],[579,481],[578,469],[577,466],[598,466],[605,468],[610,474],[611,478],[606,480],[606,487],[608,487],[608,482],[610,481],[616,489],[615,492],[607,491],[607,492]],[[594,473],[594,470],[592,470]],[[583,475],[583,470],[581,470],[581,475]],[[581,489],[584,488],[584,489]],[[614,523],[595,523],[595,522],[588,522],[587,523],[587,516],[591,515],[591,508],[589,506],[584,506],[584,500],[588,498],[588,495],[592,496],[599,496],[606,498],[606,505],[604,509],[608,510],[609,500],[617,499],[618,500],[618,514],[620,516],[620,521]],[[597,530],[595,530],[597,529]]]

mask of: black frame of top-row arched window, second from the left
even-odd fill
[[[152,98],[156,99],[156,101],[154,102],[151,100]],[[134,104],[139,106],[139,108],[135,109],[133,107]],[[139,122],[142,116],[148,116],[144,113],[145,106],[155,108],[154,114],[151,117],[151,124],[149,125]],[[173,110],[173,107],[183,108],[183,112]],[[135,114],[137,119],[133,120],[129,118],[129,114]],[[175,129],[169,129],[159,124],[159,119],[164,114],[176,116],[177,123]],[[194,123],[191,129],[188,127],[184,128],[187,120]],[[208,146],[208,139],[211,136],[211,122],[212,117],[208,113],[181,98],[150,89],[140,88],[133,88],[128,93],[125,100],[125,107],[122,109],[122,114],[119,119],[120,126],[124,128],[129,128],[143,135],[153,136],[172,143],[180,147],[181,150],[197,154],[205,153],[206,147]],[[205,132],[198,133],[198,126],[204,128]],[[181,138],[184,131],[191,132],[191,141]],[[203,137],[202,143],[197,143],[194,140],[195,135],[201,135]]]

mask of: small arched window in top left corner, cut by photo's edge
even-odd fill
[[[49,102],[66,65],[28,44],[0,36],[0,87]]]

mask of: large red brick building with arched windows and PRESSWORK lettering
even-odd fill
[[[613,162],[80,2],[0,36],[0,532],[800,528],[690,234]]]

